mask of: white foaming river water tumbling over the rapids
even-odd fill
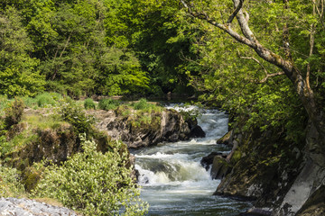
[[[249,202],[212,195],[219,180],[210,178],[200,159],[212,151],[230,150],[216,144],[228,130],[228,116],[218,110],[201,112],[199,124],[206,131],[206,138],[133,151],[135,168],[140,173],[141,198],[150,204],[149,215],[232,216],[250,207]]]

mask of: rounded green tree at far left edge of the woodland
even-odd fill
[[[22,18],[14,7],[0,14],[0,94],[35,95],[42,92],[44,79],[37,67],[39,60],[28,54],[32,50],[22,26]]]

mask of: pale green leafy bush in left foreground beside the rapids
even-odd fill
[[[92,141],[84,140],[82,148],[62,166],[48,166],[34,194],[58,199],[85,215],[144,215],[147,205],[138,198],[121,143],[105,154]]]

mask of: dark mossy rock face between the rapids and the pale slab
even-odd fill
[[[276,131],[233,132],[228,142],[233,146],[227,157],[232,170],[215,194],[255,200],[257,208],[281,205],[301,171],[301,149]]]

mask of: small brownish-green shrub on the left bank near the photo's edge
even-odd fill
[[[7,129],[22,120],[23,108],[23,101],[16,98],[14,102],[5,109],[5,127]]]

